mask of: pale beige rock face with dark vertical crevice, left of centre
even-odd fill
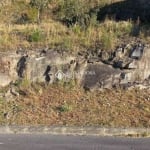
[[[25,68],[26,78],[32,82],[53,83],[56,80],[57,72],[69,71],[74,59],[74,56],[60,54],[54,50],[48,51],[45,56],[28,57]]]

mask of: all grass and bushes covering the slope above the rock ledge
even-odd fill
[[[116,22],[106,17],[99,22],[99,11],[109,5],[107,0],[13,1],[0,11],[0,49],[112,50],[133,36],[149,41],[150,29],[140,18]]]

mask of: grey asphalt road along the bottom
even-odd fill
[[[150,138],[0,135],[0,150],[150,150]]]

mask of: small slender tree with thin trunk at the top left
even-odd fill
[[[51,0],[31,0],[30,5],[32,7],[36,7],[38,10],[38,16],[37,16],[37,21],[38,23],[41,20],[41,13],[45,8],[48,7],[48,4],[51,2]]]

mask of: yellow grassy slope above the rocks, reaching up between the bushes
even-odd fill
[[[100,7],[106,2],[110,3],[111,1],[89,0],[87,7],[89,9]],[[86,30],[77,24],[67,28],[55,20],[52,13],[57,7],[57,3],[53,0],[48,10],[43,12],[41,24],[34,23],[37,19],[37,10],[31,8],[24,0],[1,8],[0,50],[16,50],[19,47],[25,49],[58,47],[75,51],[88,48],[112,50],[116,45],[124,42],[122,38],[132,38],[130,35],[135,27],[132,21],[115,22],[106,19],[103,23],[98,23],[93,16]],[[32,23],[16,24],[23,13],[28,15]],[[143,38],[145,35],[145,33],[140,32],[139,37]],[[148,40],[149,36],[144,38]]]

